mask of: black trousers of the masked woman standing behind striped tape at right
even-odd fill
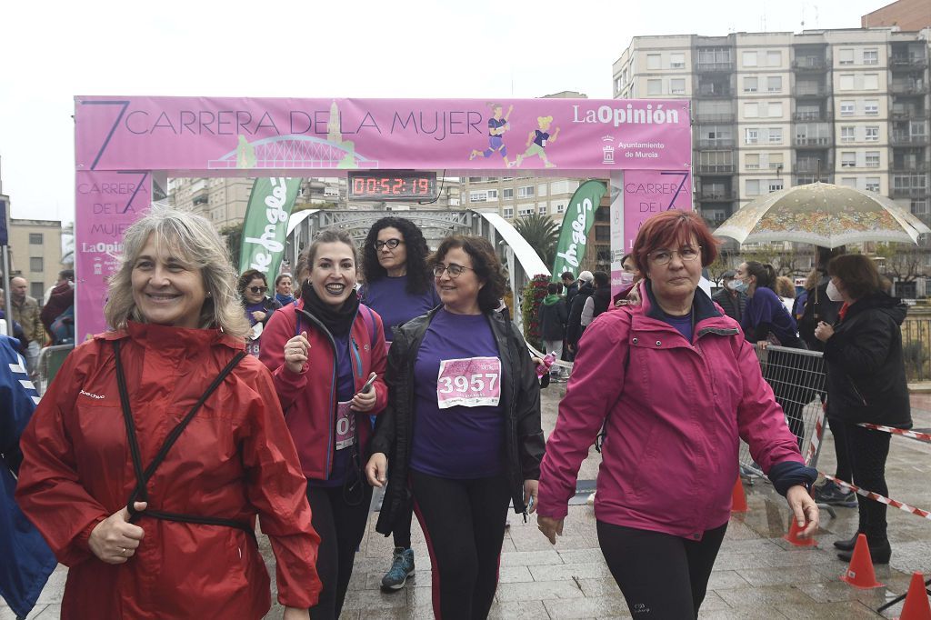
[[[835,421],[836,422],[836,421]],[[889,496],[885,483],[885,460],[892,435],[842,422],[847,440],[847,460],[859,488]],[[886,505],[857,494],[858,532],[867,535],[870,545],[886,541]]]

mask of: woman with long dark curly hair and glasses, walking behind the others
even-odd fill
[[[433,276],[426,264],[429,249],[420,228],[410,220],[396,217],[375,222],[365,239],[362,273],[365,284],[359,290],[362,301],[385,322],[388,343],[398,326],[420,317],[439,305]],[[391,568],[382,577],[382,589],[396,592],[414,572],[411,548],[413,506],[394,531],[395,550]]]

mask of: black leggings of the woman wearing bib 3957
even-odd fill
[[[434,615],[484,620],[498,587],[510,501],[506,477],[457,480],[412,471],[411,482],[433,564]]]

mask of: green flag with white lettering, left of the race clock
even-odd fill
[[[288,219],[301,189],[300,179],[256,179],[242,224],[239,269],[258,269],[271,287],[281,266]]]

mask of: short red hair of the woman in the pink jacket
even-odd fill
[[[678,209],[663,211],[643,222],[630,255],[641,274],[646,274],[650,252],[660,248],[679,249],[681,244],[689,243],[692,237],[701,246],[702,266],[713,263],[721,242],[711,236],[705,221],[695,211]]]

